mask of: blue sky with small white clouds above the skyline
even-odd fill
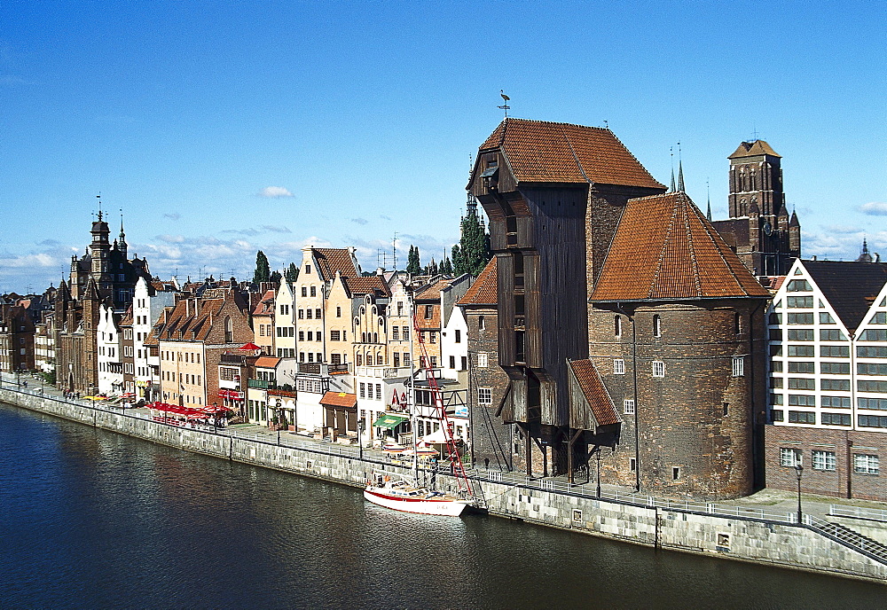
[[[0,2],[0,293],[58,284],[98,192],[164,278],[306,244],[373,269],[395,233],[439,259],[500,89],[666,184],[680,142],[715,218],[757,132],[805,257],[887,258],[885,30],[879,2]]]

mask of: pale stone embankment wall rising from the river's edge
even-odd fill
[[[166,426],[114,411],[67,403],[51,396],[0,389],[0,401],[170,447],[232,459],[326,481],[363,487],[373,471],[408,473],[408,468],[373,459],[331,455],[223,434]],[[455,487],[438,474],[438,488]],[[672,551],[705,553],[780,567],[847,575],[887,583],[887,566],[804,526],[680,509],[579,497],[491,481],[474,481],[489,512],[555,528],[571,529]]]

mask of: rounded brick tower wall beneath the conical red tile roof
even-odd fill
[[[749,324],[752,305],[644,304],[632,309],[634,344],[628,317],[622,315],[616,337],[616,311],[592,309],[591,358],[623,418],[617,450],[602,455],[603,481],[635,485],[633,459],[640,489],[651,493],[710,499],[751,493],[758,446],[754,422],[765,409],[761,391],[755,390],[753,400],[752,388],[763,387],[765,352],[760,314],[758,324]],[[737,311],[743,318],[738,334]],[[734,356],[744,356],[742,377],[734,377]],[[615,372],[617,358],[624,361],[624,374]],[[654,377],[654,362],[664,364],[664,377]],[[624,413],[625,399],[635,401],[635,414]]]

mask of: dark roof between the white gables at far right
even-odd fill
[[[802,261],[801,264],[849,332],[856,331],[872,301],[887,283],[887,262]],[[792,277],[786,279],[790,281]]]

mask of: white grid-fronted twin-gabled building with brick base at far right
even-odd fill
[[[767,322],[767,486],[887,500],[887,264],[797,260]]]

